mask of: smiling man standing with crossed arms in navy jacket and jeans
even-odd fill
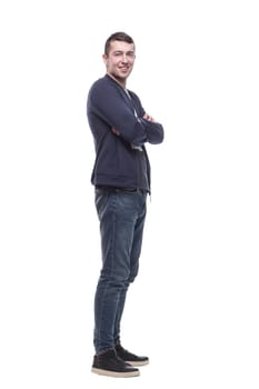
[[[139,376],[138,357],[120,342],[120,321],[129,283],[138,273],[150,193],[150,164],[146,142],[163,140],[163,128],[126,89],[135,64],[135,42],[124,32],[111,34],[102,59],[107,73],[89,90],[87,116],[96,161],[91,182],[100,221],[102,268],[94,298],[92,371],[111,377]]]

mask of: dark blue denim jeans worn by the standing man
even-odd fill
[[[114,348],[130,282],[138,273],[147,194],[96,189],[102,268],[94,297],[96,352]]]

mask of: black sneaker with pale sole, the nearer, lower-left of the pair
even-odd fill
[[[94,356],[91,371],[108,377],[139,376],[139,370],[120,359],[114,350]]]

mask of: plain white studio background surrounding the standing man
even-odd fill
[[[257,1],[2,1],[0,386],[258,389]],[[123,343],[132,379],[92,363],[100,269],[86,118],[108,36],[165,126]],[[162,383],[161,383],[162,382]]]

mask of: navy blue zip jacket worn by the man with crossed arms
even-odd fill
[[[89,90],[87,116],[96,148],[91,182],[94,186],[150,191],[150,163],[145,143],[161,143],[163,128],[143,119],[140,99],[132,91],[129,93],[131,99],[108,74],[97,80]],[[132,146],[141,147],[142,151]],[[140,174],[143,166],[147,182]]]

